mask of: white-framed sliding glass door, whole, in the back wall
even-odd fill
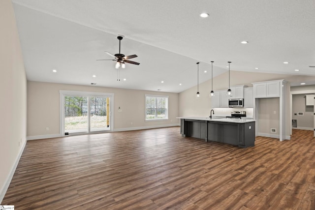
[[[61,130],[64,135],[111,131],[112,93],[61,90]]]

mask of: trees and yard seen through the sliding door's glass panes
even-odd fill
[[[91,131],[101,127],[108,127],[107,98],[86,96],[64,96],[64,130],[88,130],[88,99],[90,100],[90,128]]]

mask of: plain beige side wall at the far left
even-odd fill
[[[0,203],[26,143],[26,75],[11,0],[0,0]]]

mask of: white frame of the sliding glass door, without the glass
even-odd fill
[[[85,97],[90,97],[95,96],[95,97],[108,97],[110,98],[109,101],[109,130],[104,130],[104,131],[90,131],[90,128],[88,130],[90,132],[84,133],[84,134],[93,134],[93,133],[106,133],[106,132],[112,132],[114,129],[114,112],[112,112],[113,107],[114,107],[114,93],[108,93],[108,92],[87,92],[87,91],[75,91],[75,90],[59,90],[60,93],[60,135],[64,135],[64,96],[66,95],[73,95],[73,96],[85,96]],[[89,101],[88,101],[89,103]],[[90,107],[90,106],[89,106]],[[88,111],[90,112],[90,110]],[[89,120],[88,124],[90,126],[90,114],[89,114]],[[82,133],[78,133],[82,134]],[[75,134],[74,134],[75,135]]]

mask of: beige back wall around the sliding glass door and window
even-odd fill
[[[49,138],[61,133],[60,90],[114,93],[114,131],[179,125],[178,93],[28,81],[28,138]],[[169,120],[145,121],[145,94],[169,96]],[[123,112],[118,112],[119,107]]]

